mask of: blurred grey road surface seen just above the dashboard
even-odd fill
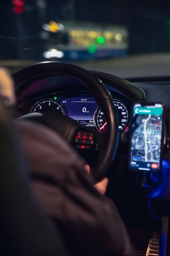
[[[1,67],[15,72],[38,61],[0,61]],[[88,70],[97,70],[120,77],[170,75],[170,53],[143,54],[110,60],[74,62]]]

